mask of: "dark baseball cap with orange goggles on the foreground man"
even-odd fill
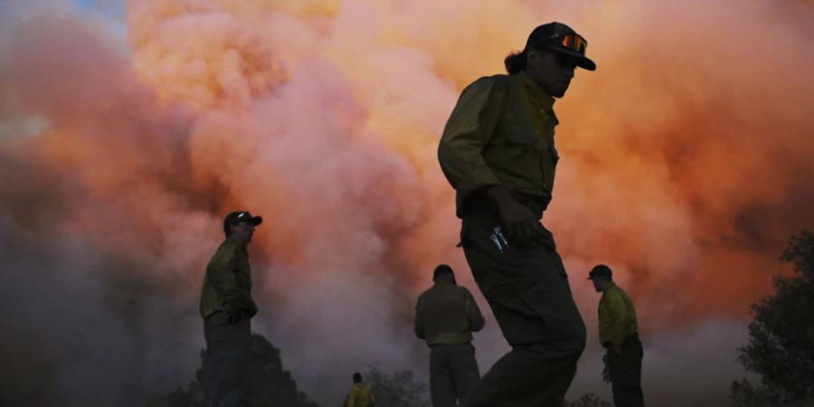
[[[563,23],[553,22],[535,28],[528,34],[528,40],[525,42],[525,50],[529,48],[548,48],[562,52],[572,56],[578,67],[588,71],[596,70],[596,63],[585,56],[588,42]]]

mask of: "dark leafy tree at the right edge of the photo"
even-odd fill
[[[734,382],[736,407],[814,405],[814,233],[792,236],[781,259],[794,265],[794,275],[774,279],[775,293],[752,306],[749,343],[738,348],[761,385]]]

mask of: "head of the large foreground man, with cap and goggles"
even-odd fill
[[[582,35],[562,23],[538,26],[529,35],[523,52],[506,57],[506,71],[519,71],[531,77],[554,98],[562,98],[571,85],[576,67],[596,70],[596,64],[585,56],[588,42]]]

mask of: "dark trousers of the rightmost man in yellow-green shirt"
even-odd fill
[[[641,392],[641,359],[644,351],[639,336],[628,336],[621,345],[621,352],[608,351],[608,373],[611,374],[613,404],[616,407],[644,407]]]

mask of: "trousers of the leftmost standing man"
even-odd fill
[[[251,345],[249,319],[230,325],[222,312],[213,314],[204,320],[204,337],[204,374],[210,405],[248,406],[245,375]]]

